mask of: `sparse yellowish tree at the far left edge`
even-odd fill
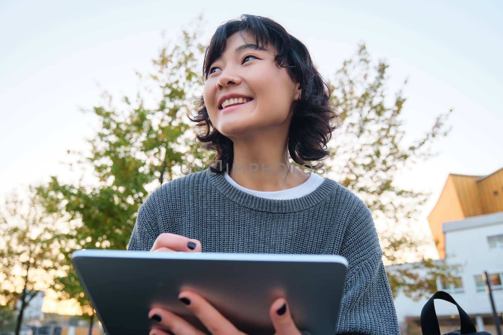
[[[49,287],[50,276],[60,266],[54,236],[54,215],[47,215],[35,196],[19,200],[8,198],[0,213],[0,297],[6,322],[17,312],[16,335],[23,322],[23,313],[38,293]],[[45,278],[44,278],[45,277]]]

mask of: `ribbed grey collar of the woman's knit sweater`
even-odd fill
[[[324,178],[323,183],[311,193],[296,199],[280,200],[263,198],[243,192],[230,184],[223,173],[211,173],[209,167],[204,171],[204,176],[208,178],[218,192],[230,201],[249,209],[269,213],[297,212],[316,206],[320,202],[326,201],[338,185],[336,181]]]

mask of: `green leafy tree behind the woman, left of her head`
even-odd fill
[[[88,140],[91,152],[68,154],[78,155],[77,164],[91,167],[96,176],[94,185],[80,181],[65,184],[52,176],[47,185],[34,188],[41,204],[68,222],[68,231],[58,234],[57,239],[69,268],[55,279],[52,288],[60,292],[61,299],[76,299],[83,313],[91,316],[90,326],[94,310],[70,266],[72,251],[126,249],[139,205],[147,196],[145,187],[172,180],[181,175],[182,164],[199,161],[201,165],[208,156],[193,141],[195,135],[188,134],[189,120],[183,119],[191,110],[186,97],[200,87],[195,56],[204,46],[195,43],[199,34],[198,28],[194,33],[182,31],[180,44],[168,43],[161,48],[153,60],[155,71],[147,76],[144,94],[149,98],[140,91],[136,99],[124,96],[119,110],[112,96],[104,92],[104,104],[92,109],[101,128]],[[158,99],[147,107],[145,100],[150,97]]]

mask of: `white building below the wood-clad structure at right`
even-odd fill
[[[438,290],[446,291],[476,322],[477,331],[496,333],[492,309],[485,289],[482,273],[487,271],[493,290],[496,312],[501,320],[503,310],[503,211],[477,215],[462,220],[445,222],[445,260],[448,264],[463,264],[461,276],[455,284],[445,285],[437,280]],[[406,266],[406,264],[402,265]],[[391,266],[389,269],[391,270]],[[446,287],[447,286],[447,287]],[[405,320],[418,321],[421,310],[428,301],[412,301],[398,293],[394,302],[398,321],[404,328]],[[441,332],[459,329],[458,311],[454,304],[435,300]],[[501,322],[501,321],[500,321]],[[455,324],[458,324],[457,326]],[[403,329],[404,330],[404,329]],[[443,331],[445,330],[445,331]]]

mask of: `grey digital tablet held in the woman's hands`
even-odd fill
[[[287,300],[299,329],[333,334],[348,262],[337,255],[78,250],[71,262],[108,335],[147,334],[163,307],[207,332],[178,300],[203,296],[247,334],[274,334],[273,301]]]

